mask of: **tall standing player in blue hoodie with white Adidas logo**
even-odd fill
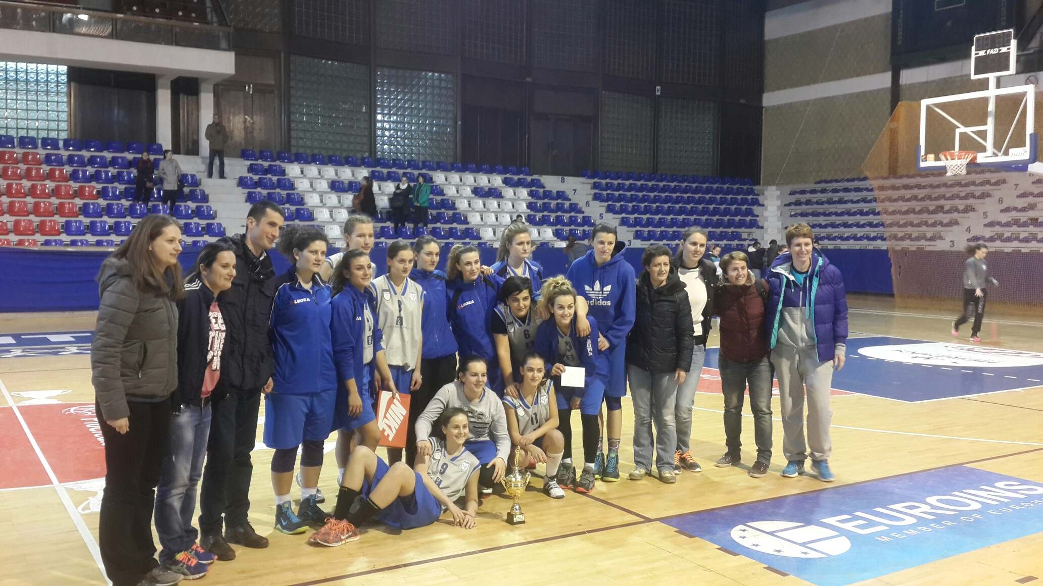
[[[568,268],[568,280],[590,306],[598,320],[598,350],[608,358],[608,406],[606,428],[608,458],[601,446],[595,461],[595,477],[604,482],[620,480],[620,438],[623,436],[623,397],[627,394],[627,334],[634,324],[634,269],[623,258],[626,244],[618,241],[615,226],[598,224],[590,237],[591,250]],[[580,337],[589,336],[586,324],[576,323]],[[600,434],[599,434],[600,436]],[[601,437],[599,437],[599,441]]]

